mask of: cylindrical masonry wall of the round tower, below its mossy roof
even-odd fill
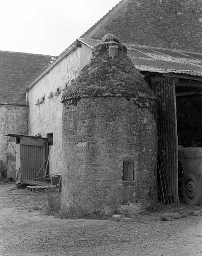
[[[82,98],[70,106],[65,102],[65,205],[101,205],[108,212],[121,204],[148,204],[156,198],[157,131],[150,111],[154,107],[144,108],[136,101],[109,97]],[[134,162],[133,181],[122,180],[123,161]]]

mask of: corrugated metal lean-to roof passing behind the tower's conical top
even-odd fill
[[[93,47],[99,41],[79,38],[79,41]],[[139,71],[154,73],[178,73],[202,76],[202,54],[125,44],[128,55]]]

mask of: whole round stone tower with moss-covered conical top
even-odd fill
[[[114,35],[92,49],[62,102],[62,203],[112,212],[156,199],[156,96]]]

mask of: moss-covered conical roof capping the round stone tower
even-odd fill
[[[118,46],[114,58],[109,46]],[[63,94],[66,99],[124,96],[155,98],[152,90],[127,56],[127,48],[114,35],[104,36],[92,49],[92,58]]]

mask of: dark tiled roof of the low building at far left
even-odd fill
[[[26,104],[25,89],[55,58],[0,51],[0,103]]]

